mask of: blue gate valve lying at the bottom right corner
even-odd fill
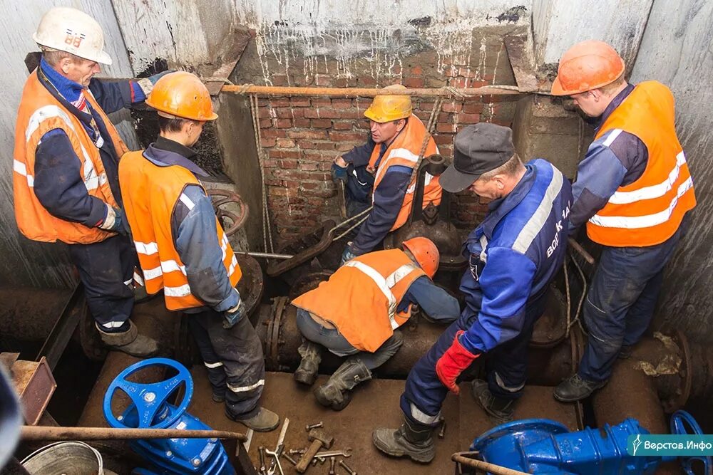
[[[671,433],[702,434],[702,430],[691,414],[677,411],[671,417]],[[550,419],[523,419],[485,432],[473,440],[471,451],[477,451],[483,461],[528,474],[652,474],[661,462],[676,459],[688,475],[694,475],[694,460],[703,464],[705,474],[713,469],[710,456],[631,456],[627,439],[636,434],[649,431],[632,418],[576,432]]]

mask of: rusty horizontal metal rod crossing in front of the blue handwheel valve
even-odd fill
[[[236,439],[240,442],[247,440],[245,434],[224,430],[47,426],[22,426],[21,437],[24,440]]]

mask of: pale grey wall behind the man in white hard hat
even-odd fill
[[[94,16],[105,28],[106,50],[113,65],[103,73],[112,77],[129,77],[126,48],[121,38],[116,18],[109,0],[27,0],[0,2],[0,28],[6,31],[0,46],[0,62],[6,68],[0,76],[0,86],[5,100],[0,103],[0,147],[4,160],[0,161],[0,283],[8,285],[63,287],[74,280],[62,244],[39,244],[24,238],[17,231],[12,199],[12,150],[14,149],[15,120],[22,88],[27,78],[24,58],[30,51],[38,51],[32,33],[43,13],[52,6],[73,6]],[[119,130],[135,146],[133,127],[118,115]]]

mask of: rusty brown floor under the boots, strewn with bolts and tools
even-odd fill
[[[213,429],[245,432],[242,424],[230,421],[223,414],[222,404],[210,399],[210,384],[205,370],[194,366],[193,402],[189,412],[199,417]],[[327,377],[320,377],[315,385]],[[334,412],[320,406],[310,390],[302,389],[292,380],[292,375],[269,372],[265,377],[265,392],[262,404],[280,415],[289,418],[285,436],[285,449],[302,449],[309,441],[305,426],[322,421],[324,432],[332,435],[335,442],[332,450],[353,449],[352,456],[344,461],[359,474],[450,474],[453,473],[451,454],[467,450],[473,439],[493,427],[486,414],[470,395],[468,383],[461,385],[461,396],[448,395],[443,405],[446,433],[443,439],[436,438],[436,459],[431,464],[414,464],[407,459],[393,459],[382,455],[371,444],[371,432],[377,427],[396,428],[401,423],[399,397],[404,390],[403,380],[372,380],[357,387],[354,399],[342,412]],[[577,428],[577,417],[572,405],[559,404],[552,397],[551,387],[528,386],[515,411],[515,417],[547,417]],[[279,427],[268,433],[255,432],[250,444],[250,459],[257,465],[257,448],[274,450],[279,437]],[[294,467],[282,460],[285,474],[295,474]],[[307,474],[327,474],[329,461],[324,465],[310,466]],[[337,465],[337,474],[347,472]]]

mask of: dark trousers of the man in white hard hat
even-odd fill
[[[112,236],[93,244],[69,244],[79,269],[87,304],[103,331],[119,328],[133,310],[133,271],[136,251],[128,236]]]

